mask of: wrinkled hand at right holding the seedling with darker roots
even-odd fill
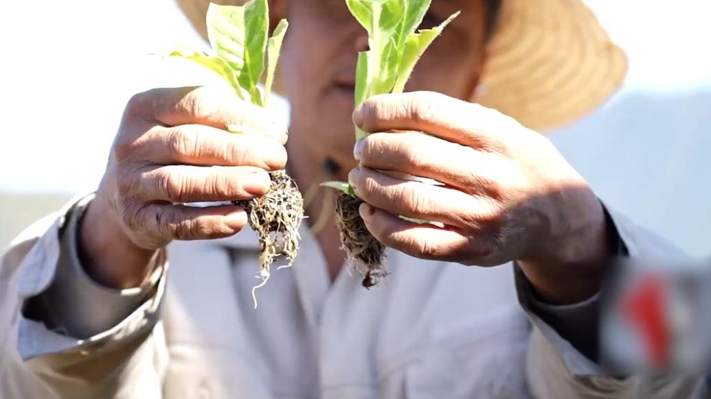
[[[366,226],[383,244],[466,265],[520,261],[539,285],[570,283],[557,280],[563,265],[609,252],[604,211],[592,190],[547,138],[514,119],[416,92],[373,97],[353,120],[372,134],[356,143],[361,166],[349,181],[366,202],[360,208]]]

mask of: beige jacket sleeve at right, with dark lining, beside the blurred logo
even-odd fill
[[[631,258],[680,261],[688,258],[659,236],[606,208]],[[533,324],[526,373],[535,398],[676,399],[711,397],[703,378],[694,376],[616,377],[585,356],[597,346],[598,295],[585,302],[551,306],[538,302],[525,275],[515,268],[518,299]],[[566,339],[570,338],[570,339]],[[587,350],[586,350],[587,349]]]

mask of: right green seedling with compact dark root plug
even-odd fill
[[[355,106],[376,94],[402,93],[417,60],[459,13],[431,29],[417,28],[432,0],[346,0],[348,9],[365,31],[368,51],[358,53],[355,71]],[[367,133],[355,128],[355,140]],[[336,202],[336,224],[353,268],[363,275],[363,286],[378,284],[386,274],[385,246],[365,228],[358,214],[360,200],[351,185],[327,182],[341,190]],[[416,221],[419,222],[419,221]]]

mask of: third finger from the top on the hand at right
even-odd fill
[[[358,197],[373,207],[405,217],[453,226],[478,224],[483,214],[490,212],[491,208],[459,190],[401,180],[368,168],[352,170],[348,182]]]

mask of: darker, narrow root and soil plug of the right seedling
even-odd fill
[[[387,274],[383,266],[385,246],[365,228],[358,213],[363,203],[358,197],[341,193],[336,199],[336,225],[341,234],[342,248],[353,268],[363,275],[363,287],[377,285]]]

